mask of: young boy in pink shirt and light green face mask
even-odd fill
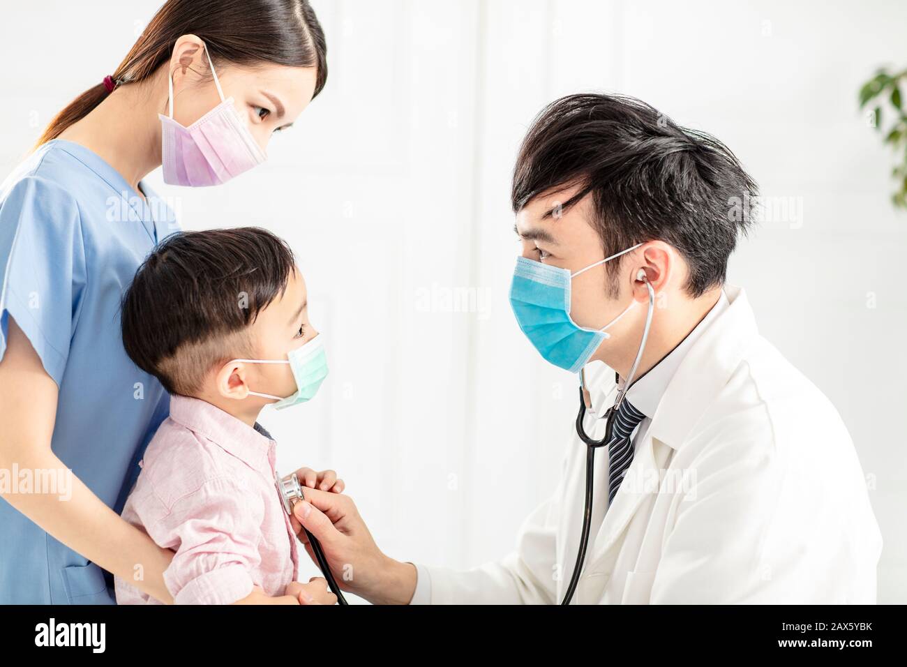
[[[275,443],[257,422],[268,403],[312,397],[327,375],[306,304],[292,251],[256,228],[168,237],[123,298],[123,345],[170,392],[171,411],[122,516],[176,552],[164,573],[175,603],[336,602],[324,579],[296,582]],[[333,471],[301,477],[343,490]],[[114,584],[117,603],[159,603]]]

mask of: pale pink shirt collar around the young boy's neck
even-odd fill
[[[170,417],[193,433],[208,438],[253,470],[274,477],[277,444],[264,427],[254,427],[200,398],[171,396]]]

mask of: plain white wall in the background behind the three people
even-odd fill
[[[158,2],[4,4],[7,172]],[[715,133],[767,195],[802,202],[802,219],[741,245],[729,279],[850,427],[883,528],[879,600],[907,601],[907,215],[855,103],[876,66],[907,65],[907,5],[314,4],[327,89],[268,163],[216,191],[150,177],[187,228],[258,224],[297,250],[331,376],[307,407],[263,419],[281,466],[335,467],[395,557],[469,566],[512,547],[555,484],[575,409],[572,378],[538,358],[507,303],[513,158],[544,103],[629,93]]]

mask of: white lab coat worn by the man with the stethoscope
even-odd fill
[[[874,603],[882,535],[834,406],[756,330],[742,289],[689,348],[608,505],[595,512],[573,603]],[[610,374],[613,378],[613,374]],[[606,387],[610,385],[610,387]],[[613,403],[602,378],[593,406]],[[600,438],[605,420],[587,414]],[[419,564],[432,603],[560,603],[580,541],[586,446],[516,549],[469,571]],[[596,530],[595,526],[599,526]]]

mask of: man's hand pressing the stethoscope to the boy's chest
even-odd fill
[[[321,543],[341,589],[374,604],[408,604],[413,598],[415,565],[381,552],[351,497],[311,489],[306,491],[306,500],[293,505],[293,514]],[[297,535],[317,564],[305,532],[300,530]]]

